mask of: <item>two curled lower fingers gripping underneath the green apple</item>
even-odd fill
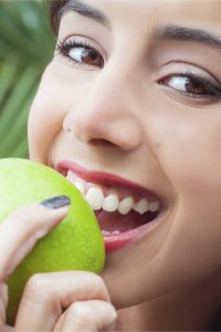
[[[30,279],[15,328],[18,331],[109,331],[115,319],[116,312],[101,277],[67,271],[35,274]]]

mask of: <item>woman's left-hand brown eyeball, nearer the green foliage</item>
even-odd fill
[[[73,61],[78,63],[85,63],[87,65],[93,65],[98,68],[104,66],[104,60],[102,55],[93,49],[87,49],[85,46],[73,46],[72,49],[70,49],[67,55]]]

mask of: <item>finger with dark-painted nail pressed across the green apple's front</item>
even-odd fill
[[[49,209],[42,205],[30,205],[19,208],[0,225],[0,282],[7,281],[35,242],[55,227],[67,211],[67,206]]]

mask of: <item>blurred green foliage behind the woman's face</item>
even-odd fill
[[[0,158],[28,157],[30,104],[54,42],[46,1],[0,0]]]

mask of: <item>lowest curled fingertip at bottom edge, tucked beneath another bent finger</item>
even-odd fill
[[[74,302],[60,318],[54,332],[110,331],[117,314],[114,307],[105,301]]]

